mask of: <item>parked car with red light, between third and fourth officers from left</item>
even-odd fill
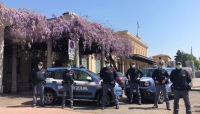
[[[124,76],[121,72],[117,72],[117,75],[119,76],[118,78],[116,78],[116,82],[120,85],[120,87],[122,89],[124,89],[124,86],[125,86],[125,82],[128,80],[126,78],[126,76]]]

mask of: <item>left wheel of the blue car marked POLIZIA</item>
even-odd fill
[[[45,91],[44,92],[44,103],[46,105],[52,105],[56,101],[56,97],[53,91]]]

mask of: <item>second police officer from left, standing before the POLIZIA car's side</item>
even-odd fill
[[[67,91],[69,91],[70,108],[73,108],[73,83],[74,83],[74,71],[71,70],[70,64],[67,64],[67,70],[63,72],[63,99],[62,108],[65,107]]]

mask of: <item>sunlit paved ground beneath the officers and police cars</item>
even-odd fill
[[[200,91],[190,92],[190,101],[192,104],[193,114],[200,113]],[[67,101],[69,103],[69,101]],[[170,100],[171,108],[173,108],[173,100]],[[160,104],[156,110],[151,109],[152,101],[143,101],[142,105],[128,104],[128,100],[124,98],[120,100],[120,109],[115,107],[106,107],[105,110],[101,110],[95,101],[75,100],[74,109],[71,110],[68,107],[61,109],[61,101],[58,100],[54,106],[46,106],[45,108],[36,107],[31,108],[32,98],[28,95],[0,95],[0,114],[172,114],[172,111],[166,110],[165,103]],[[185,105],[182,99],[180,99],[180,112],[179,114],[185,114]],[[114,104],[113,104],[114,105]]]

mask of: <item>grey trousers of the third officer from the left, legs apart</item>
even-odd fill
[[[103,96],[102,96],[102,107],[106,104],[106,95],[108,93],[108,89],[110,89],[110,92],[112,94],[113,99],[115,100],[115,105],[119,105],[119,101],[116,97],[114,86],[110,86],[109,84],[103,84]]]

